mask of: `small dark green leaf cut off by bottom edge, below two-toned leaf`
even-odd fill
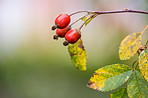
[[[114,91],[110,98],[128,98],[127,88],[120,88]]]

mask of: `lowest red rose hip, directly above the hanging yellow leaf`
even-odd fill
[[[81,32],[78,29],[71,29],[65,34],[65,39],[71,43],[76,43],[81,37]]]

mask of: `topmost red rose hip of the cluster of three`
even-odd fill
[[[70,16],[68,14],[61,14],[55,19],[55,25],[58,28],[63,29],[70,23]]]

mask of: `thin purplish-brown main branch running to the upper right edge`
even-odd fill
[[[101,14],[127,13],[127,12],[148,14],[148,11],[138,11],[138,10],[129,10],[129,9],[120,10],[120,11],[94,11],[93,13],[97,13],[97,14],[101,15]]]

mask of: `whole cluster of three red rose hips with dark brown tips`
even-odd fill
[[[55,19],[55,25],[52,26],[52,30],[56,29],[56,35],[53,36],[53,39],[58,40],[58,37],[65,37],[64,46],[67,46],[69,43],[76,43],[81,37],[80,30],[71,29],[71,25],[69,25],[70,20],[70,15],[61,14]]]

